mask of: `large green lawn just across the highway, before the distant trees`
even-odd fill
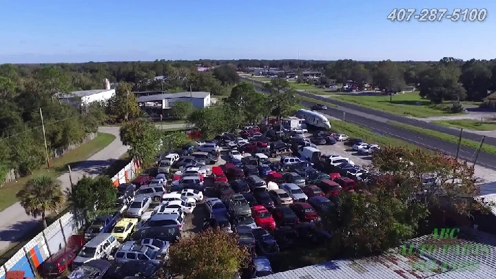
[[[392,114],[410,115],[416,117],[453,115],[448,112],[450,104],[432,105],[431,101],[420,98],[417,91],[393,96],[333,96],[333,99],[382,110]]]

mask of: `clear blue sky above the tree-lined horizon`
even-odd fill
[[[486,8],[488,17],[391,22],[393,8]],[[2,3],[0,34],[0,63],[494,59],[496,2],[14,0]]]

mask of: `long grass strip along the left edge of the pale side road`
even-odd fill
[[[0,187],[0,211],[10,207],[17,202],[16,194],[21,190],[25,183],[32,177],[44,174],[51,176],[53,178],[61,176],[61,174],[68,172],[67,165],[71,163],[76,163],[80,161],[85,161],[90,158],[101,149],[105,148],[107,145],[114,141],[115,136],[112,134],[98,133],[98,136],[94,138],[89,143],[81,145],[77,149],[74,149],[60,158],[56,158],[50,161],[50,169],[45,166],[37,169],[30,176],[24,176],[19,178],[17,181],[12,181],[10,183],[4,184]]]

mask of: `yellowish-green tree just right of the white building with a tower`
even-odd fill
[[[132,94],[130,83],[119,83],[116,94],[107,101],[107,115],[112,123],[121,123],[140,116],[138,99]]]

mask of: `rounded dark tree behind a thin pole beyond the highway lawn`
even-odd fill
[[[402,91],[405,85],[403,72],[390,60],[378,63],[373,82],[382,89],[395,91]]]

